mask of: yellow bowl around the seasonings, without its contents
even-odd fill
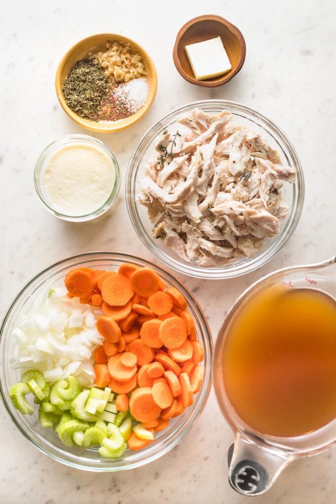
[[[125,119],[104,123],[83,119],[75,112],[73,112],[65,102],[62,93],[62,87],[65,77],[69,74],[76,61],[85,58],[89,50],[105,50],[106,42],[108,40],[111,42],[113,42],[114,40],[124,43],[127,42],[130,45],[132,51],[139,52],[143,56],[145,70],[147,72],[146,77],[149,86],[149,93],[145,104],[135,114],[132,114]],[[87,130],[97,133],[114,133],[120,130],[124,130],[125,128],[129,128],[132,124],[139,121],[148,112],[150,106],[153,103],[156,95],[157,84],[158,78],[156,68],[153,59],[148,54],[148,52],[139,44],[137,44],[137,42],[116,33],[102,33],[99,35],[92,35],[91,37],[85,38],[71,47],[71,49],[69,49],[69,51],[66,52],[60,60],[55,79],[57,98],[63,110],[69,115],[69,117],[77,122],[77,124],[79,124],[83,128],[86,128]]]

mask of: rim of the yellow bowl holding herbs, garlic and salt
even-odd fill
[[[90,124],[88,124],[86,122],[87,119],[83,119],[82,117],[80,117],[79,115],[77,115],[66,104],[64,96],[63,96],[63,92],[62,92],[61,81],[60,81],[60,76],[61,76],[63,67],[65,65],[66,60],[68,60],[68,58],[70,57],[71,53],[79,45],[83,44],[83,42],[89,44],[89,42],[92,39],[94,39],[95,37],[98,37],[98,36],[99,37],[106,37],[106,41],[108,41],[111,38],[114,38],[116,40],[120,39],[123,42],[130,42],[131,44],[135,45],[137,48],[139,48],[139,52],[142,53],[143,57],[145,59],[147,59],[147,61],[149,63],[149,66],[150,66],[150,69],[151,69],[151,73],[152,73],[152,84],[151,84],[151,86],[149,86],[149,92],[148,92],[148,98],[147,98],[148,101],[147,101],[146,105],[144,105],[142,107],[143,110],[141,111],[141,113],[138,116],[136,116],[137,115],[137,112],[136,112],[135,114],[132,114],[129,117],[126,117],[125,121],[127,120],[127,122],[124,123],[124,124],[122,124],[122,125],[118,124],[119,121],[111,122],[111,125],[110,125],[109,128],[102,128],[99,125],[100,124],[99,122],[94,122],[94,121],[90,121]],[[62,56],[61,60],[59,61],[58,66],[57,66],[56,76],[55,76],[56,96],[57,96],[57,99],[58,99],[58,101],[59,101],[62,109],[64,110],[64,112],[73,121],[75,121],[77,124],[79,124],[80,126],[82,126],[82,128],[85,128],[86,130],[89,130],[89,131],[92,131],[92,132],[95,132],[95,133],[106,133],[106,134],[108,134],[108,133],[115,133],[115,132],[118,132],[118,131],[125,130],[126,128],[129,128],[130,126],[132,126],[133,124],[135,124],[136,122],[138,122],[140,119],[142,119],[144,117],[144,115],[147,114],[148,110],[151,108],[151,106],[153,104],[153,101],[154,101],[154,98],[155,98],[155,95],[156,95],[157,87],[158,87],[158,75],[157,75],[157,71],[156,71],[156,67],[155,67],[153,58],[149,55],[149,53],[147,52],[147,50],[144,49],[144,47],[141,46],[138,42],[136,42],[135,40],[133,40],[133,39],[131,39],[129,37],[126,37],[125,35],[121,35],[121,34],[117,34],[117,33],[96,33],[94,35],[90,35],[89,37],[85,37],[85,38],[79,40],[78,42],[76,42],[76,44],[72,45],[70,47],[70,49],[68,49],[65,52],[65,54]]]

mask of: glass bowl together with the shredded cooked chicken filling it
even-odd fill
[[[270,119],[205,100],[158,120],[139,141],[126,202],[145,245],[198,278],[251,272],[284,246],[304,200],[300,160]]]

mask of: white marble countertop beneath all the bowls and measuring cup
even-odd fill
[[[185,82],[172,60],[179,28],[210,12],[237,25],[246,40],[241,72],[228,84],[206,89]],[[143,44],[158,70],[158,92],[147,116],[115,135],[96,135],[114,151],[123,182],[136,142],[161,115],[190,101],[223,98],[244,103],[272,118],[288,134],[301,158],[306,198],[301,221],[277,257],[252,274],[230,281],[181,277],[207,314],[214,339],[225,313],[251,282],[279,267],[323,260],[335,253],[334,174],[335,7],[331,0],[100,0],[17,2],[0,20],[0,200],[2,279],[0,315],[38,271],[88,250],[122,250],[151,258],[133,231],[123,197],[112,217],[97,224],[62,222],[40,204],[33,168],[41,150],[70,133],[87,133],[59,106],[54,75],[60,57],[75,42],[116,32]],[[194,428],[169,454],[140,469],[117,474],[82,472],[52,461],[29,444],[0,406],[3,504],[238,504],[246,497],[228,484],[227,449],[233,436],[214,393]],[[336,450],[298,461],[256,504],[334,502]]]

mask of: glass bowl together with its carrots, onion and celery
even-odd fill
[[[197,301],[129,254],[79,254],[36,275],[8,310],[0,347],[1,395],[17,428],[83,470],[161,457],[211,388],[212,338]]]

